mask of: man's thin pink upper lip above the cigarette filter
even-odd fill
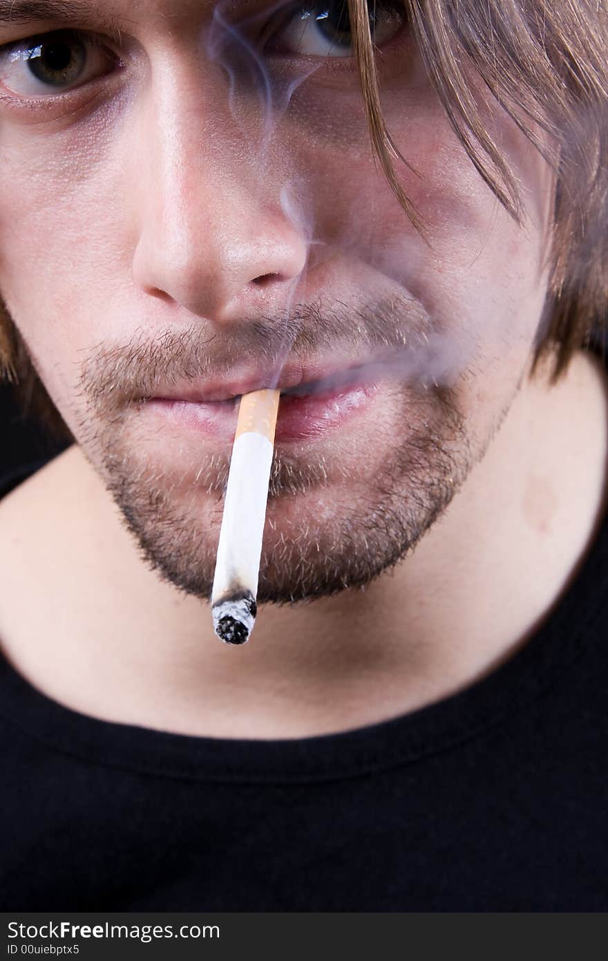
[[[306,384],[318,384],[318,382],[328,381],[348,382],[356,378],[356,373],[364,365],[365,360],[344,361],[328,365],[314,362],[301,364],[285,364],[279,371],[243,371],[242,373],[229,373],[224,378],[206,380],[201,382],[182,382],[174,383],[166,388],[158,390],[154,394],[155,400],[175,400],[185,401],[191,404],[212,404],[221,401],[231,401],[243,394],[249,394],[254,390],[264,388],[276,388],[285,393],[295,390],[297,387],[304,387]]]

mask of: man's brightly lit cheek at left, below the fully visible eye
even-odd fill
[[[62,412],[79,352],[111,326],[102,306],[126,289],[117,230],[125,191],[110,143],[109,118],[65,131],[2,129],[11,186],[0,196],[0,290]]]

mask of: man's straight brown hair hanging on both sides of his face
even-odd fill
[[[372,3],[374,0],[372,0]],[[402,0],[428,75],[483,180],[518,221],[517,182],[484,128],[473,68],[551,164],[556,190],[550,281],[535,359],[554,354],[553,378],[588,344],[608,300],[608,17],[605,0]],[[424,225],[395,165],[407,161],[380,108],[367,0],[348,0],[354,54],[372,146],[402,208]],[[554,145],[547,148],[547,143]],[[8,313],[0,313],[0,372],[24,407],[71,438]],[[73,438],[72,438],[73,439]]]

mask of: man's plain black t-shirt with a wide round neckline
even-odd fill
[[[323,736],[99,721],[0,658],[0,907],[608,910],[607,582],[608,520],[491,675]]]

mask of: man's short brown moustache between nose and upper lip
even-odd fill
[[[285,391],[292,396],[380,381],[431,389],[450,386],[472,352],[467,336],[458,340],[438,331],[411,295],[368,305],[288,304],[280,315],[243,318],[236,333],[196,325],[181,333],[167,330],[151,343],[140,329],[128,347],[100,345],[83,363],[78,393],[98,416],[111,418],[177,383],[255,375],[259,386],[276,386],[287,354],[290,365],[314,375],[304,373],[303,382]],[[328,357],[335,370],[326,373]]]

